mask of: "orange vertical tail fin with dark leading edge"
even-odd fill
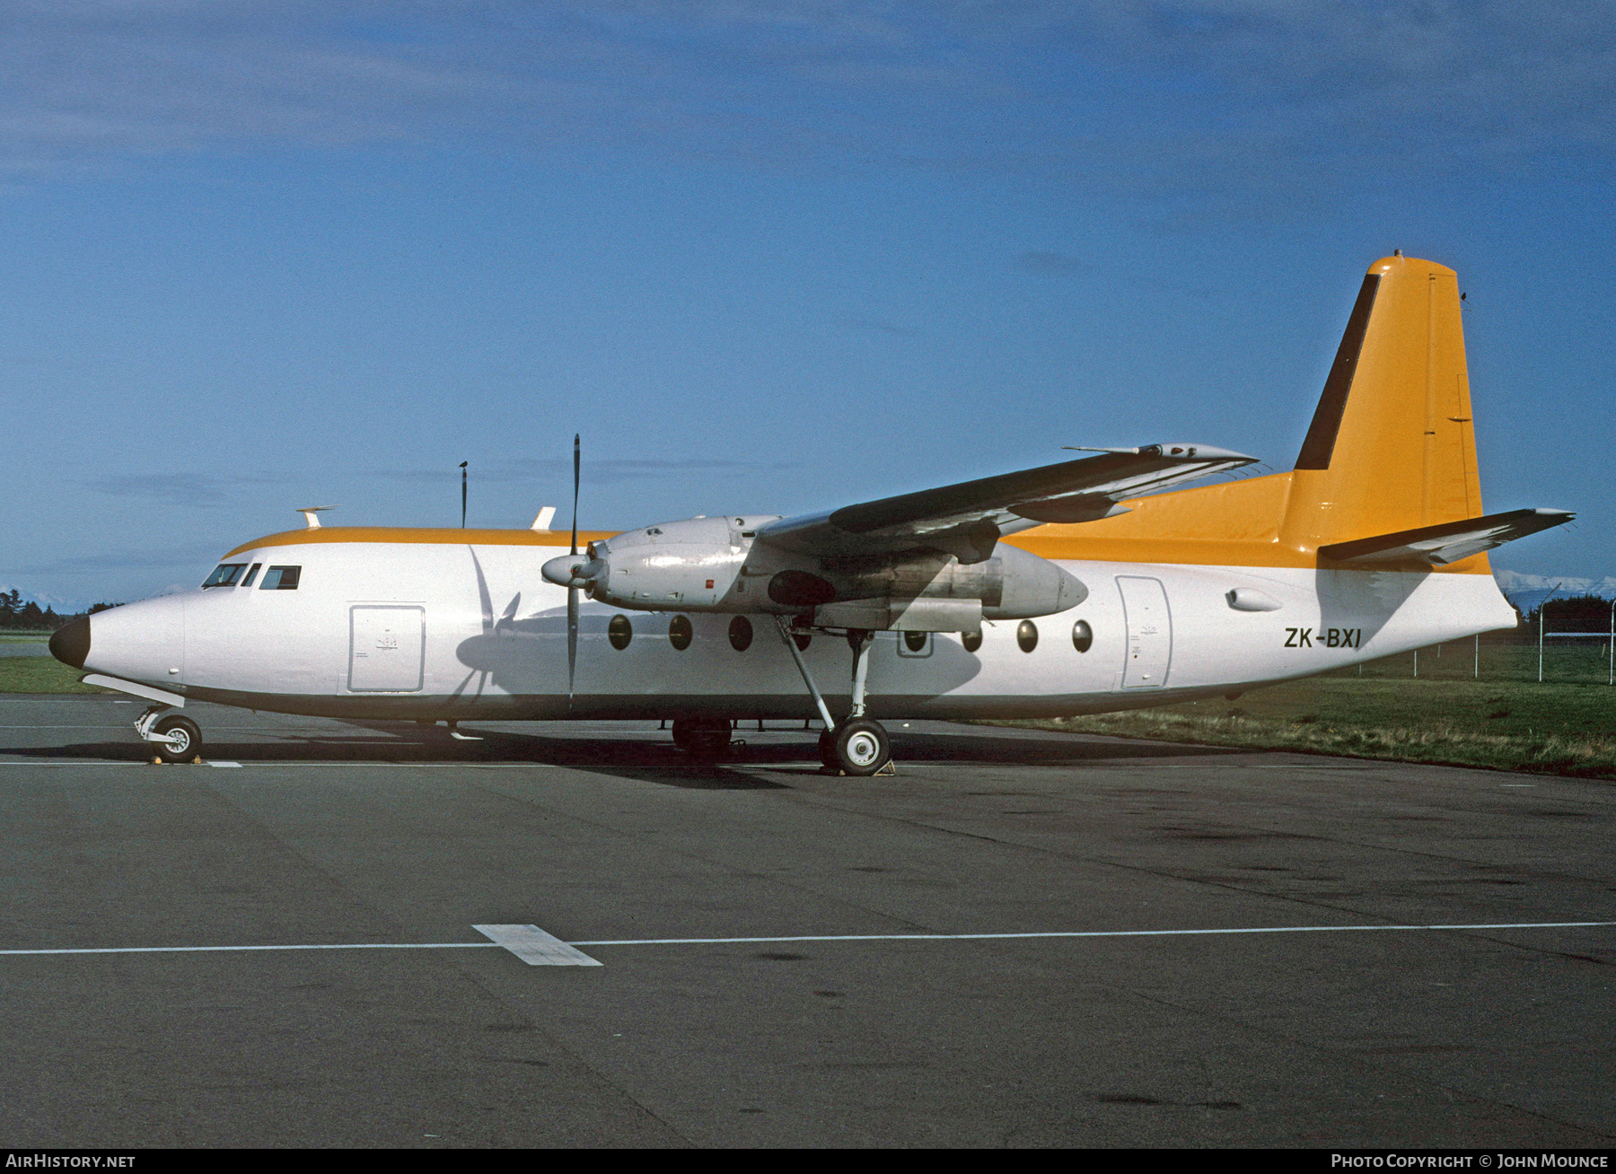
[[[1294,549],[1482,514],[1453,270],[1369,266],[1291,478]]]

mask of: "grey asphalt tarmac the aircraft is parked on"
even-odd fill
[[[158,767],[137,712],[0,699],[0,1145],[1616,1135],[1616,925],[1543,925],[1616,922],[1605,783],[944,723],[855,780],[800,730],[208,706],[213,765]],[[1013,933],[1113,937],[915,937]]]

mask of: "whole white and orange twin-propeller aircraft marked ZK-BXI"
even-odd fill
[[[554,510],[532,530],[309,512],[50,651],[152,701],[136,728],[168,761],[202,744],[173,711],[212,701],[451,733],[672,719],[696,754],[735,720],[818,717],[826,765],[868,775],[889,761],[877,719],[1160,706],[1514,627],[1485,551],[1572,518],[1482,510],[1456,275],[1401,254],[1369,268],[1291,472],[1164,493],[1252,457],[1092,452],[824,514],[579,535],[574,446],[570,554]]]

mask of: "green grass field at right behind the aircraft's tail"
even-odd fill
[[[1125,714],[1005,722],[1209,746],[1446,762],[1587,778],[1616,778],[1616,688],[1601,646],[1472,644],[1420,649],[1356,669]]]

